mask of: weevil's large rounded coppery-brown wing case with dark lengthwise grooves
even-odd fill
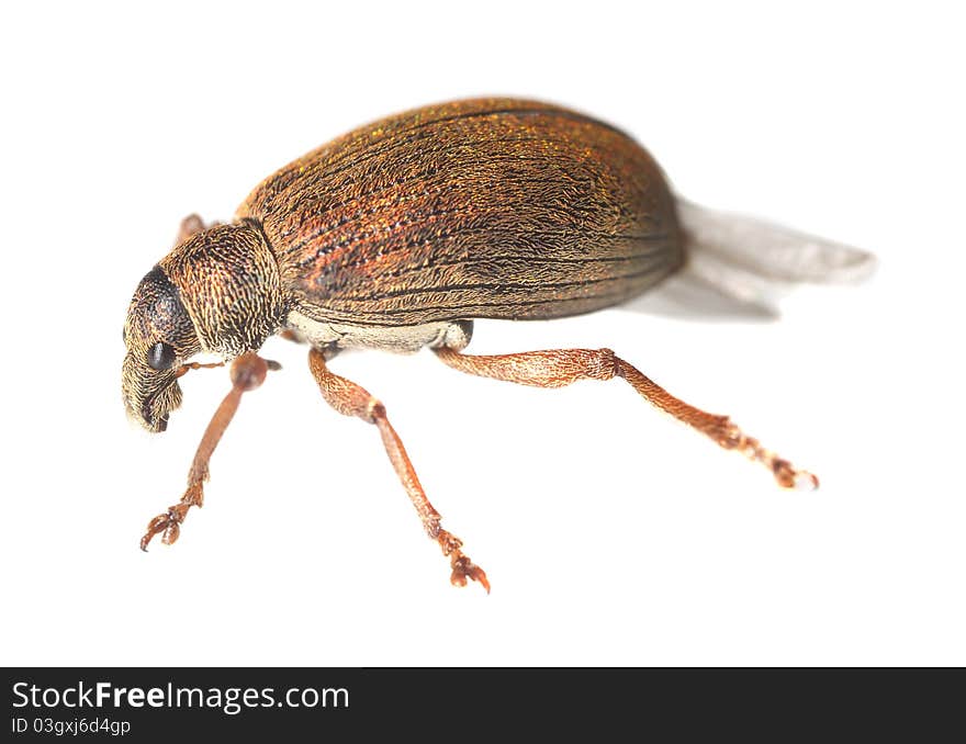
[[[674,201],[621,132],[471,100],[375,122],[248,196],[297,311],[348,325],[550,318],[619,303],[684,260]]]

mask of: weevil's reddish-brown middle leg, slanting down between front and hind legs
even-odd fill
[[[490,582],[486,579],[486,574],[460,550],[462,541],[442,529],[442,518],[426,498],[426,493],[419,484],[419,477],[413,469],[413,463],[409,462],[409,455],[406,454],[406,448],[403,447],[402,440],[385,416],[385,407],[360,385],[329,372],[322,351],[312,349],[308,352],[308,368],[312,370],[315,382],[318,383],[322,396],[333,408],[345,416],[358,416],[363,421],[374,424],[379,428],[385,452],[396,471],[396,475],[400,476],[409,500],[416,507],[416,512],[423,521],[423,528],[430,538],[439,543],[442,554],[449,556],[452,567],[450,582],[454,586],[465,586],[467,579],[472,578],[474,582],[480,582],[488,594]]]

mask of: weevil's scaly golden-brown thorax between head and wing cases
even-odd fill
[[[252,221],[196,233],[159,266],[178,286],[203,351],[233,359],[259,349],[281,328],[279,267]]]

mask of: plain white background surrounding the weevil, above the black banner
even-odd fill
[[[162,8],[0,23],[0,663],[966,664],[954,3]],[[822,489],[778,489],[619,382],[345,354],[493,583],[459,590],[375,430],[271,341],[284,369],[243,402],[204,509],[139,552],[227,391],[190,374],[164,436],[121,406],[126,305],[180,218],[231,217],[358,124],[485,93],[587,111],[695,201],[880,257],[869,284],[804,290],[776,323],[653,295],[479,323],[471,347],[611,347]]]

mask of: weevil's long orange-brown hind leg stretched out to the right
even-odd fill
[[[785,488],[817,488],[819,485],[815,475],[794,467],[787,460],[763,448],[757,439],[745,435],[727,416],[706,413],[674,397],[610,349],[551,349],[476,357],[442,347],[436,349],[436,353],[446,364],[460,372],[537,387],[563,387],[577,380],[624,377],[658,408],[710,437],[726,450],[738,450],[765,465],[778,485]]]

